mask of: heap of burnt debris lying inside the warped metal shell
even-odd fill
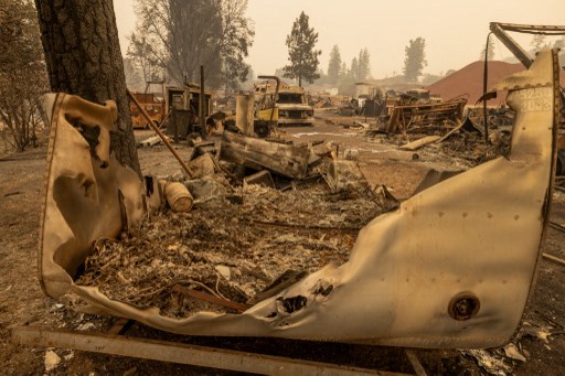
[[[192,211],[161,210],[119,241],[100,239],[77,284],[171,318],[241,312],[308,272],[343,264],[359,229],[396,205],[352,161],[238,135],[224,136],[221,152],[211,148],[195,149],[192,176],[161,182],[182,183]],[[248,170],[243,185],[230,172],[237,166]],[[274,180],[286,180],[286,190]]]

